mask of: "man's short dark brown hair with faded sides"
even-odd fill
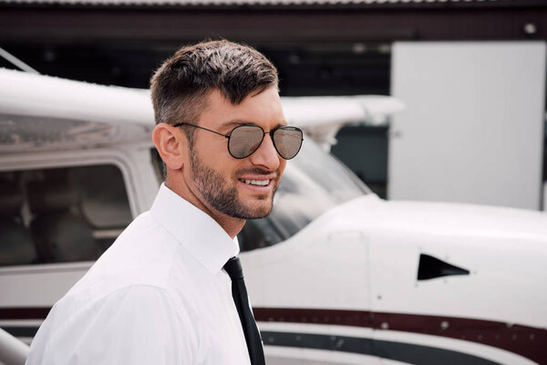
[[[181,47],[150,80],[156,124],[197,123],[213,89],[237,105],[278,82],[274,65],[253,47],[227,40]],[[189,140],[194,130],[185,130]]]

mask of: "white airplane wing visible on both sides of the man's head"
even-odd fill
[[[386,124],[403,104],[387,96],[284,97],[285,117],[326,151],[346,124]],[[0,152],[150,142],[150,90],[0,68]]]

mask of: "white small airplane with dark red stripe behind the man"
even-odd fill
[[[283,103],[304,147],[239,235],[269,365],[547,364],[547,214],[379,199],[325,149],[400,103]],[[1,328],[29,343],[149,209],[153,126],[148,90],[0,69]]]

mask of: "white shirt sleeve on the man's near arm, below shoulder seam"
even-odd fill
[[[199,326],[163,289],[122,288],[76,312],[50,314],[27,365],[198,363]]]

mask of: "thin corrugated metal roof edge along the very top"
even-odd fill
[[[442,5],[442,4],[519,4],[526,0],[0,0],[0,4],[60,5],[170,5],[170,6],[232,6],[232,5]]]

